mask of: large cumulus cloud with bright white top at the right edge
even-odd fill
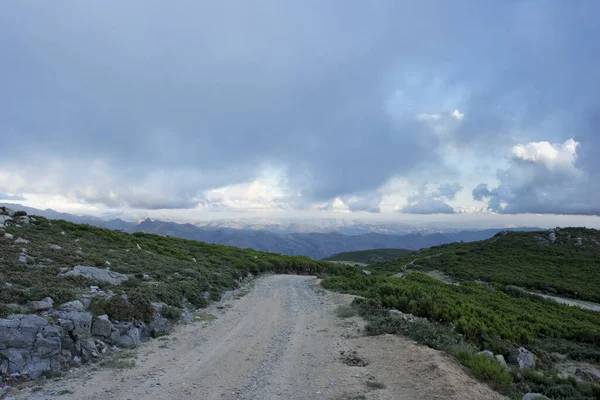
[[[491,211],[504,214],[599,215],[599,176],[578,167],[579,146],[573,139],[516,145],[509,167],[496,174],[499,185],[490,189],[479,184],[473,198],[487,201]]]

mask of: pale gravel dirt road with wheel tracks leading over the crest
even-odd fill
[[[315,278],[275,275],[216,319],[179,327],[137,350],[130,369],[81,368],[17,399],[500,399],[449,357],[396,336],[362,337],[335,309],[349,296]],[[356,351],[366,366],[347,365]],[[356,360],[355,360],[356,361]]]

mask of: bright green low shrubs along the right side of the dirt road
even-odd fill
[[[439,254],[440,249],[432,252]],[[443,257],[428,260],[433,259],[437,263]],[[387,265],[400,263],[406,261]],[[354,307],[369,322],[367,334],[401,334],[448,352],[474,376],[512,398],[525,392],[544,393],[552,399],[600,395],[597,385],[561,379],[554,371],[559,356],[600,362],[600,313],[562,305],[498,282],[447,284],[420,272],[409,270],[397,278],[389,276],[393,270],[381,265],[373,269],[379,273],[345,270],[322,282],[326,289],[361,296]],[[538,356],[536,375],[517,373],[479,353],[486,349],[508,358],[511,350],[520,346]]]

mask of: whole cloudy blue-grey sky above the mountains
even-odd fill
[[[0,202],[595,225],[599,14],[594,0],[10,2]]]

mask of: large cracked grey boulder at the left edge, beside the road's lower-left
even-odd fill
[[[15,314],[0,319],[0,372],[37,378],[60,368],[62,336],[59,326],[36,315]]]

